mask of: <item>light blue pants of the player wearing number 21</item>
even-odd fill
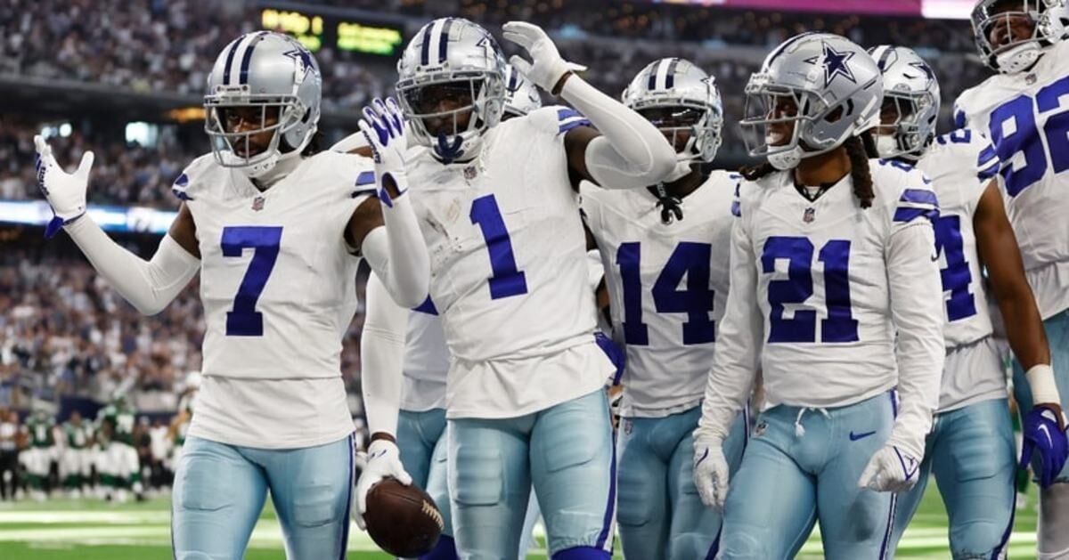
[[[890,436],[894,408],[884,393],[840,408],[762,413],[731,479],[718,558],[794,558],[818,520],[824,558],[885,558],[894,495],[857,482]]]

